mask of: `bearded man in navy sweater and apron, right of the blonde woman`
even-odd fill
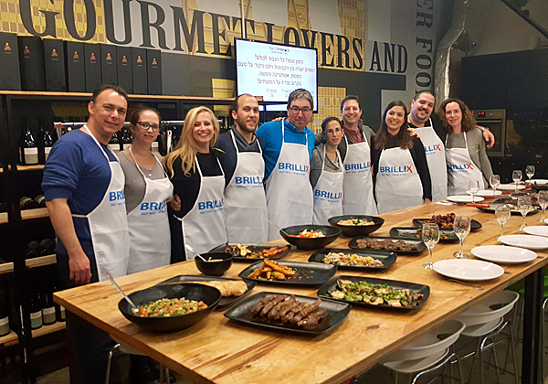
[[[225,222],[230,243],[260,243],[269,238],[267,199],[263,187],[265,162],[258,126],[258,101],[239,95],[230,107],[234,127],[221,133],[216,147],[226,177]]]

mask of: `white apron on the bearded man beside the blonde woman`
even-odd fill
[[[265,162],[259,152],[239,152],[234,133],[237,163],[234,175],[225,188],[225,223],[228,242],[260,243],[269,239],[267,197],[263,187]]]

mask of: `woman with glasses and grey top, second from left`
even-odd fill
[[[160,113],[143,107],[132,113],[132,145],[121,152],[125,175],[124,195],[130,229],[128,273],[167,265],[171,257],[171,236],[166,201],[174,192],[163,171],[162,157],[151,152],[160,132]]]

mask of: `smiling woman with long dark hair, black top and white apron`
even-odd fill
[[[414,207],[432,199],[424,145],[407,132],[403,101],[391,101],[372,140],[374,192],[379,213]]]

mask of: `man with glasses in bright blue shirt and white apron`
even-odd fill
[[[311,92],[298,89],[290,93],[288,117],[281,122],[262,124],[257,135],[264,142],[269,240],[279,239],[279,228],[311,224],[313,197],[310,165],[314,133],[314,101]]]

